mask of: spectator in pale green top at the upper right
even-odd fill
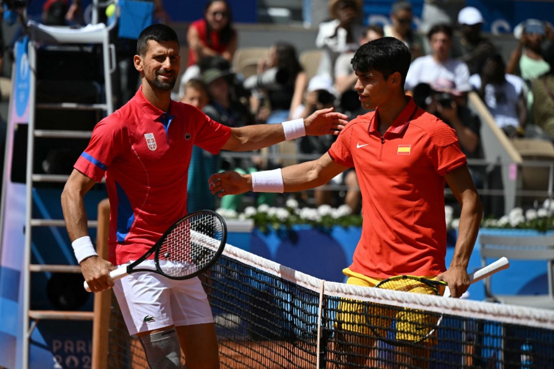
[[[520,42],[510,56],[506,73],[532,80],[550,70],[550,65],[542,57],[542,43],[545,41],[546,28],[540,20],[536,19],[527,19],[521,27],[517,27],[517,30],[520,28]]]

